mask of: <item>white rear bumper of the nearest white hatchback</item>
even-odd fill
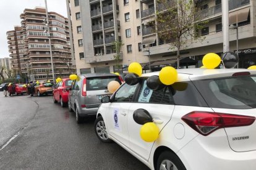
[[[226,141],[224,141],[223,137],[219,139],[222,141],[216,141],[216,139],[213,140],[211,137],[199,135],[179,150],[177,156],[181,158],[186,169],[256,169],[255,150],[250,152],[234,152],[228,145],[228,139]]]

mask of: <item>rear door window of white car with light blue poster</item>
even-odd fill
[[[153,91],[148,88],[147,79],[145,79],[142,84],[143,86],[140,88],[137,102],[174,104],[170,86],[166,86],[158,91]]]

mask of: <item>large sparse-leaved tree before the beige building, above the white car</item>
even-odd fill
[[[170,48],[177,50],[177,68],[180,51],[186,48],[187,42],[203,39],[197,36],[196,31],[201,30],[207,22],[199,21],[200,16],[193,0],[158,0],[155,31]]]

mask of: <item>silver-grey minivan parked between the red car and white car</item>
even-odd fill
[[[89,73],[79,76],[69,91],[69,110],[75,111],[77,123],[86,116],[96,115],[102,97],[112,95],[108,91],[108,83],[118,81],[122,84],[120,76],[111,73]]]

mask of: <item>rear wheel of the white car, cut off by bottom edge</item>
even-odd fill
[[[170,151],[164,151],[160,154],[157,160],[156,169],[177,169],[186,170],[184,164],[177,155]]]

